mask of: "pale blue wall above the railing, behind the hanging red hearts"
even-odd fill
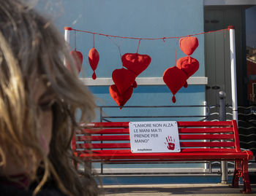
[[[64,26],[102,34],[141,38],[186,36],[203,32],[203,0],[62,0],[59,2],[61,4],[51,3],[53,11],[49,11],[47,7],[43,8],[42,4],[39,4],[39,7],[41,10],[45,9],[43,12],[50,12],[50,15],[53,15],[56,26],[62,32]],[[73,34],[74,31],[71,31],[72,47],[74,47]],[[87,54],[93,47],[93,36],[77,32],[76,37],[77,50],[80,50],[84,56],[84,70],[80,77],[91,77],[92,71]],[[200,69],[194,76],[204,77],[204,36],[200,35],[197,38],[199,47],[192,57],[199,60]],[[126,52],[136,52],[138,47],[138,40],[113,39],[113,41],[117,44],[121,42],[121,55]],[[118,47],[105,36],[95,36],[95,47],[100,55],[97,77],[111,77],[114,69],[122,67]],[[152,58],[151,64],[139,77],[162,77],[165,69],[176,63],[176,39],[167,39],[165,42],[142,40],[139,53],[150,55]],[[177,60],[184,56],[178,47]],[[108,86],[90,87],[90,89],[99,98],[99,105],[116,106],[108,93]],[[205,87],[190,85],[187,89],[182,88],[176,98],[175,105],[201,105],[205,101]],[[127,106],[131,105],[174,104],[171,102],[170,90],[166,86],[139,86],[127,102]],[[118,109],[110,111],[112,112],[120,113]],[[198,112],[201,112],[201,109],[195,109],[194,113]]]

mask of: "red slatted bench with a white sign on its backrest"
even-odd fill
[[[132,153],[129,144],[129,122],[90,123],[83,129],[83,134],[85,136],[76,136],[72,141],[72,149],[83,160],[89,162],[235,161],[232,187],[238,187],[238,180],[242,178],[244,180],[242,192],[251,192],[248,161],[252,160],[253,154],[249,150],[241,151],[235,120],[178,122],[181,152],[172,153]]]

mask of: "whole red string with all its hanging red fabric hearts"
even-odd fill
[[[66,28],[65,28],[66,29]],[[68,28],[69,31],[75,31],[75,50],[72,50],[70,54],[75,59],[76,66],[78,71],[80,71],[83,63],[83,55],[81,52],[76,50],[76,31],[81,31],[77,29]],[[218,31],[227,31],[228,28],[221,29]],[[99,34],[90,31],[81,31],[88,34],[95,34],[100,36],[107,37],[117,37],[121,39],[138,39],[138,49],[140,46],[141,39],[147,40],[156,40],[162,39],[165,42],[165,39],[179,39],[179,47],[181,51],[184,52],[185,57],[179,58],[176,61],[176,66],[167,68],[163,74],[163,81],[170,89],[171,93],[173,93],[172,101],[176,103],[176,93],[181,87],[187,87],[187,79],[191,77],[199,68],[199,62],[197,59],[192,58],[191,55],[198,47],[198,39],[195,35],[200,34],[208,34],[216,31],[208,31],[200,34],[193,34],[188,36],[176,36],[176,37],[161,37],[161,38],[135,38],[135,37],[126,37],[126,36],[112,36],[107,34]],[[225,34],[224,34],[225,36]],[[138,49],[136,53],[126,53],[121,56],[121,61],[123,63],[124,68],[115,69],[112,73],[112,79],[115,85],[111,85],[109,87],[109,92],[114,101],[118,104],[120,109],[124,106],[125,103],[131,98],[133,93],[133,88],[136,88],[137,82],[135,81],[136,77],[141,74],[143,71],[148,68],[151,63],[151,57],[149,55],[141,55],[138,53]],[[177,48],[176,48],[177,52]],[[94,71],[92,75],[92,79],[97,79],[95,74],[95,70],[97,69],[97,65],[99,63],[99,52],[93,46],[91,50],[89,50],[89,64],[91,69]]]

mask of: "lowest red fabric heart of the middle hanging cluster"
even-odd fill
[[[133,92],[133,87],[129,87],[127,91],[125,91],[123,94],[120,94],[117,90],[116,85],[111,85],[109,87],[109,93],[114,101],[118,104],[120,109],[122,106],[124,106],[125,103],[131,98]]]

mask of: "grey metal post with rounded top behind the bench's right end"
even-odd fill
[[[219,120],[226,120],[226,93],[219,91]],[[227,184],[228,173],[227,173],[227,161],[221,161],[222,181],[221,184]]]

